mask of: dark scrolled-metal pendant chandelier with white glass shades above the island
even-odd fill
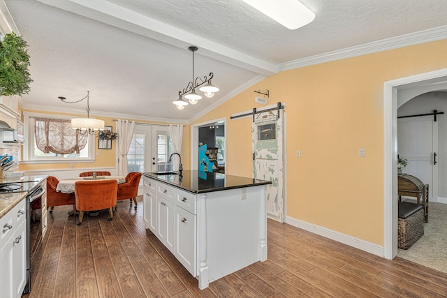
[[[185,89],[179,91],[179,98],[173,101],[173,104],[179,110],[183,110],[185,105],[188,105],[188,101],[191,105],[195,105],[198,103],[198,100],[202,99],[202,96],[196,93],[196,88],[199,88],[200,86],[199,90],[202,91],[207,98],[212,98],[214,93],[219,91],[219,88],[211,84],[211,79],[214,76],[213,73],[210,73],[209,77],[206,75],[203,76],[203,79],[201,77],[194,77],[194,52],[198,50],[198,47],[191,46],[188,47],[188,50],[193,52],[193,80],[186,85]],[[188,101],[184,100],[184,98]]]

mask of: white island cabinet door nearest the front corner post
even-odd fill
[[[174,255],[193,276],[196,276],[196,217],[175,206],[177,237]]]

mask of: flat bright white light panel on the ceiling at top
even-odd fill
[[[315,13],[298,0],[242,0],[284,27],[295,30],[315,18]]]

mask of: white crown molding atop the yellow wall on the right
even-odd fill
[[[393,38],[386,38],[383,40],[374,41],[372,43],[365,43],[363,45],[356,45],[355,47],[346,47],[342,50],[336,50],[324,54],[318,54],[302,59],[288,61],[284,64],[277,64],[277,70],[291,70],[315,64],[322,64],[330,61],[358,57],[365,54],[393,50],[399,47],[408,47],[410,45],[418,45],[420,43],[430,43],[432,41],[442,40],[446,38],[447,26],[442,26]]]

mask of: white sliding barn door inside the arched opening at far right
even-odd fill
[[[418,177],[429,185],[430,201],[437,201],[438,122],[433,116],[397,119],[397,154],[406,158],[403,173]]]

